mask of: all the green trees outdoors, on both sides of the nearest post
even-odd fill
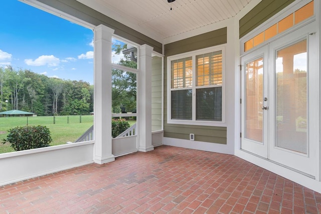
[[[115,54],[127,45],[115,45]],[[134,53],[118,64],[137,68]],[[6,103],[8,100],[8,103]],[[94,86],[85,81],[62,80],[30,70],[0,67],[0,111],[22,110],[39,116],[86,115],[93,112]],[[7,109],[8,104],[8,109]],[[112,70],[112,112],[136,111],[136,74]]]

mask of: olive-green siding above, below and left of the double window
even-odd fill
[[[190,139],[190,133],[195,134],[196,141],[226,144],[226,127],[180,125],[167,123],[167,57],[195,51],[203,48],[225,44],[227,42],[227,28],[222,28],[199,36],[191,37],[165,45],[165,74],[164,74],[164,137]]]

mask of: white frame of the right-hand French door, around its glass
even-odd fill
[[[315,177],[317,170],[317,159],[316,150],[317,143],[319,142],[319,102],[316,97],[319,97],[319,72],[317,70],[317,60],[315,60],[315,55],[317,55],[316,36],[314,34],[310,35],[316,28],[315,22],[303,26],[295,30],[294,32],[279,38],[278,40],[270,43],[270,77],[269,77],[269,87],[270,94],[273,99],[270,99],[270,120],[269,120],[269,159],[282,164],[286,167],[290,167],[293,170],[298,170],[300,172],[306,173],[307,176]],[[295,151],[290,151],[287,149],[282,149],[275,145],[276,143],[276,112],[274,106],[276,106],[275,92],[275,59],[276,51],[287,47],[296,41],[307,39],[307,62],[308,62],[308,73],[307,73],[307,154],[302,154]],[[289,106],[290,107],[290,106]]]

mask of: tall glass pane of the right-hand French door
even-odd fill
[[[276,146],[306,154],[306,40],[277,51],[276,56]]]

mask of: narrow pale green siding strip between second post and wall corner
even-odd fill
[[[151,61],[151,130],[162,129],[162,57]]]

